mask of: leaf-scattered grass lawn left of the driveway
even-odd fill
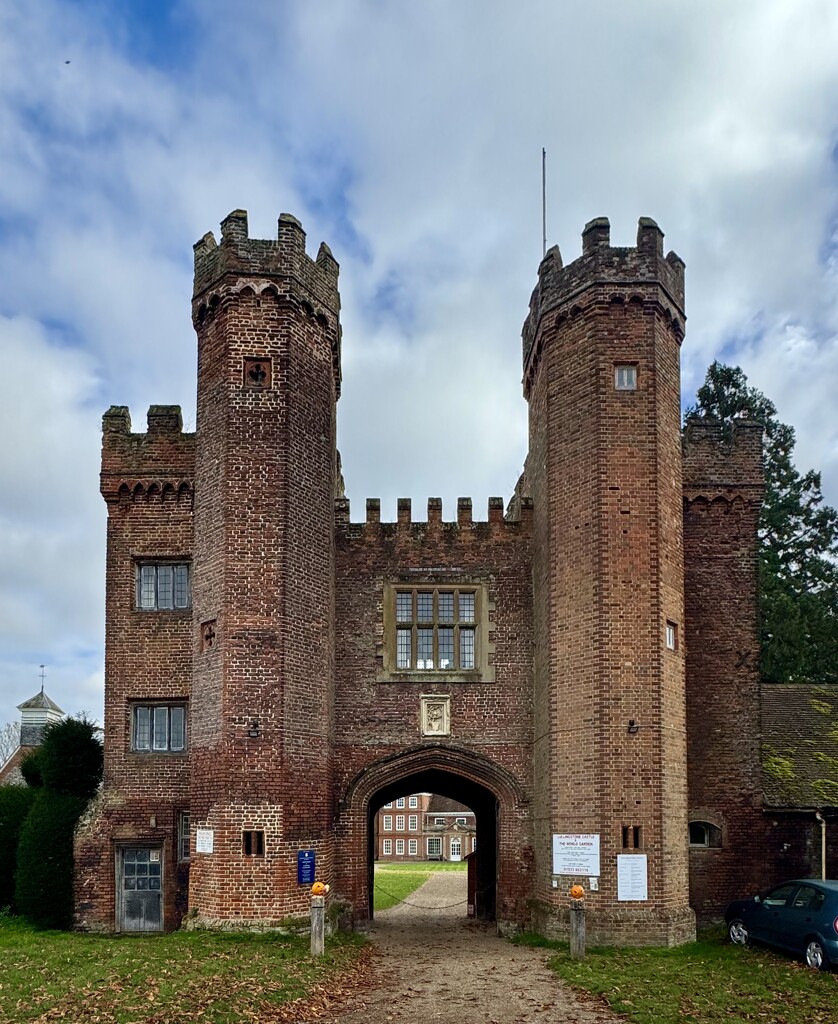
[[[0,1024],[316,1019],[364,983],[369,947],[334,936],[312,959],[308,944],[307,936],[274,934],[38,932],[0,916]]]

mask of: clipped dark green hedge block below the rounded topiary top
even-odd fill
[[[38,928],[70,928],[73,831],[87,801],[50,790],[35,793],[17,843],[14,904]]]

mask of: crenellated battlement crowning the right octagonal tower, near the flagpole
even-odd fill
[[[684,264],[674,252],[664,256],[664,233],[658,224],[651,217],[640,217],[636,246],[615,247],[609,218],[596,217],[585,225],[582,255],[573,263],[562,264],[558,246],[549,249],[541,261],[521,332],[525,373],[542,319],[584,306],[585,293],[592,289],[618,303],[661,301],[683,333]]]

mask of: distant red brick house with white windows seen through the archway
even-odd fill
[[[464,804],[418,793],[389,800],[375,817],[376,859],[462,860],[476,849],[476,818]]]

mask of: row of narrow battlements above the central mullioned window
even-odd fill
[[[474,520],[472,518],[471,499],[457,499],[456,520],[443,520],[443,500],[442,498],[428,498],[427,500],[427,520],[414,520],[412,518],[412,502],[410,498],[400,498],[396,503],[395,522],[381,521],[381,501],[378,498],[367,499],[367,513],[364,522],[351,522],[349,513],[349,499],[335,499],[335,525],[345,532],[363,531],[365,529],[380,528],[382,531],[410,532],[415,536],[424,535],[427,530],[468,530],[479,529],[516,529],[521,527],[529,529],[533,521],[532,499],[523,498],[519,501],[518,518],[507,518],[504,515],[504,502],[502,498],[490,498],[488,503],[488,517],[485,520]]]

